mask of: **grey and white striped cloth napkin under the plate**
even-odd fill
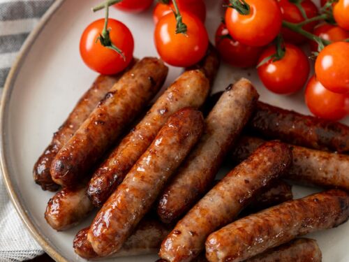
[[[0,0],[0,92],[18,51],[54,0]],[[1,93],[0,93],[1,94]],[[0,262],[24,261],[43,254],[28,233],[0,176]]]

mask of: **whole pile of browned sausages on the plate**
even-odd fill
[[[298,237],[349,217],[349,127],[262,103],[246,79],[209,97],[218,67],[211,47],[151,103],[168,67],[135,59],[54,133],[34,180],[61,187],[45,212],[57,231],[98,209],[73,242],[82,258],[321,261]],[[289,181],[329,190],[293,200]]]

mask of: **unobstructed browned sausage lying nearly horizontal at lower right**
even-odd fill
[[[206,240],[209,261],[238,262],[297,236],[333,228],[349,217],[349,195],[330,190],[288,201],[239,219]]]

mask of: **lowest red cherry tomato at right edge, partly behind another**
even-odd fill
[[[349,96],[327,90],[315,76],[306,85],[305,100],[309,110],[317,117],[337,121],[349,112]]]

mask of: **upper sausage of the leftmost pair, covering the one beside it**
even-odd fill
[[[158,92],[167,73],[163,61],[151,57],[125,73],[54,157],[50,170],[54,182],[74,187],[82,176],[90,175],[125,126]]]

